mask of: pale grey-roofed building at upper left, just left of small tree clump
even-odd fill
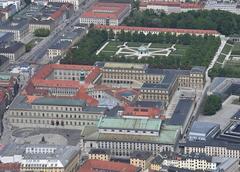
[[[29,23],[27,20],[14,20],[8,21],[0,25],[1,32],[12,32],[14,33],[14,40],[20,41],[24,36],[27,35]]]

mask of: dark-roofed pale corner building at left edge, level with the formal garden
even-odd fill
[[[21,42],[13,42],[0,48],[0,55],[7,57],[10,63],[15,62],[25,52],[25,45]]]

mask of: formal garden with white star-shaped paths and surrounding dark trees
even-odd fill
[[[208,66],[220,45],[213,36],[143,34],[91,29],[68,52],[61,63],[88,64],[96,61],[148,63],[152,67],[189,69]]]

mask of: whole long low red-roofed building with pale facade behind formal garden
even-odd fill
[[[196,36],[220,36],[220,33],[216,30],[200,30],[200,29],[175,29],[175,28],[151,28],[151,27],[135,27],[135,26],[108,26],[108,25],[96,25],[96,29],[104,29],[107,31],[112,30],[114,34],[120,33],[121,31],[124,32],[137,32],[137,33],[144,33],[147,35],[148,33],[151,34],[159,34],[159,33],[170,33],[178,35],[190,34]]]

